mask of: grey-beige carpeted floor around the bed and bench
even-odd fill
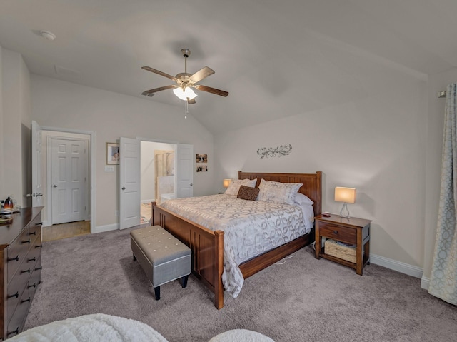
[[[246,279],[220,311],[194,276],[161,286],[155,301],[129,233],[109,231],[43,243],[39,286],[25,328],[89,313],[133,318],[167,340],[209,341],[234,328],[275,341],[456,341],[457,308],[421,281],[381,266],[363,276],[306,247],[282,265]]]

